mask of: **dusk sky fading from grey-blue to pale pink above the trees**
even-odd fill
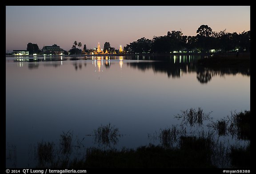
[[[119,49],[168,31],[196,35],[203,24],[216,32],[250,31],[250,6],[6,6],[6,52],[28,43],[70,50],[75,40],[88,49],[105,42]]]

